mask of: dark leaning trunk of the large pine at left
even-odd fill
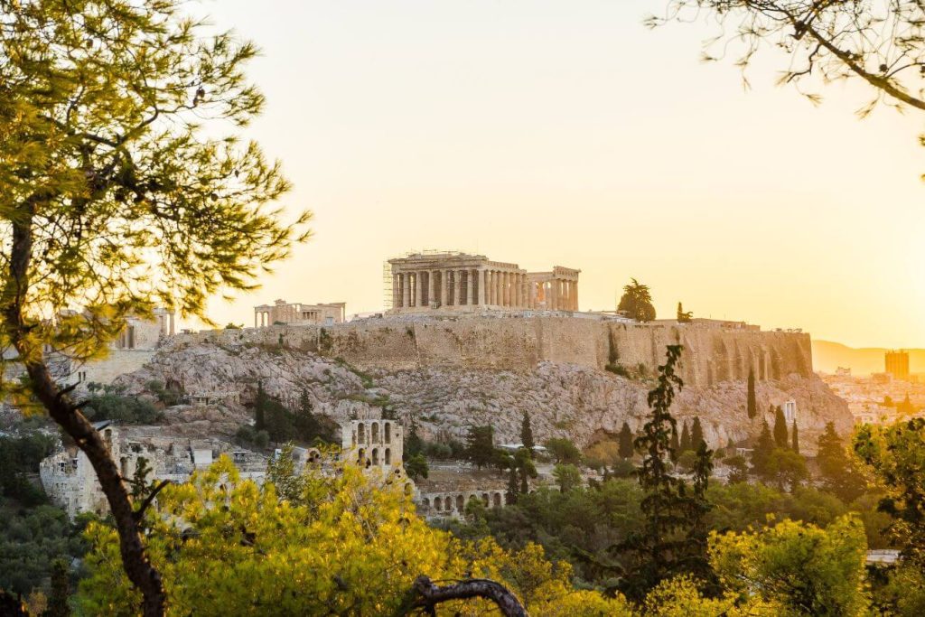
[[[161,575],[148,560],[142,545],[139,526],[132,512],[129,491],[122,482],[116,463],[100,434],[93,428],[67,392],[58,388],[44,362],[43,341],[31,339],[30,325],[23,315],[23,303],[29,290],[29,267],[32,252],[31,218],[34,203],[26,206],[22,219],[12,220],[13,238],[9,273],[2,296],[2,315],[6,334],[19,353],[19,361],[30,377],[31,392],[42,402],[55,422],[74,439],[87,455],[116,521],[122,567],[129,580],[142,592],[145,617],[164,614],[166,595]]]

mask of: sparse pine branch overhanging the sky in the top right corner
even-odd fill
[[[873,89],[859,110],[878,103],[925,110],[925,6],[907,0],[818,2],[816,0],[672,0],[667,13],[648,19],[712,18],[719,28],[703,57],[734,57],[745,71],[762,48],[783,52],[778,82],[795,84],[814,103],[815,88],[837,80],[860,80]]]

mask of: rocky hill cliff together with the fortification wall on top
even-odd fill
[[[845,402],[811,372],[808,336],[783,332],[539,317],[228,330],[179,337],[119,381],[139,393],[155,379],[192,394],[222,393],[214,412],[170,413],[177,426],[191,414],[203,423],[203,415],[218,413],[224,420],[216,430],[233,430],[260,380],[293,406],[307,389],[315,410],[337,419],[376,416],[388,406],[432,435],[491,424],[500,441],[516,442],[529,412],[538,439],[587,444],[624,421],[633,428],[645,422],[648,376],[674,342],[685,345],[685,389],[672,411],[687,422],[698,415],[713,447],[760,431],[761,415],[746,415],[749,366],[769,423],[771,405],[796,401],[805,452],[813,452],[826,422],[842,434],[851,429]],[[603,370],[608,364],[633,378]]]

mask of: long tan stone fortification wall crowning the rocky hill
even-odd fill
[[[633,326],[571,317],[372,319],[333,327],[277,326],[179,335],[170,345],[198,342],[286,347],[342,358],[362,369],[426,366],[532,371],[542,361],[603,369],[609,364],[654,373],[665,346],[685,346],[682,376],[691,386],[808,377],[808,334],[724,328]]]

